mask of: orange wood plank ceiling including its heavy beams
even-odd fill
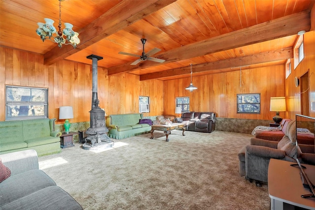
[[[44,18],[59,22],[59,0],[1,0],[0,45],[44,55],[44,63],[72,60],[98,66],[108,75],[129,72],[140,80],[195,75],[284,64],[300,30],[311,27],[314,0],[64,0],[62,23],[74,25],[81,43],[59,48],[42,42],[35,30]],[[130,65],[159,48],[150,60]]]

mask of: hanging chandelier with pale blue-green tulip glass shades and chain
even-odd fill
[[[64,23],[64,29],[61,27],[61,2],[64,0],[59,0],[59,30],[57,31],[54,27],[54,22],[52,19],[44,18],[45,23],[37,23],[38,29],[36,29],[37,35],[40,36],[43,42],[48,37],[48,40],[55,42],[61,48],[63,44],[72,45],[74,48],[80,43],[78,38],[79,33],[72,30],[73,25],[70,23]],[[53,36],[55,33],[56,36]]]

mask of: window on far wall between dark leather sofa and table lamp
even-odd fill
[[[237,94],[237,113],[260,114],[260,93]]]

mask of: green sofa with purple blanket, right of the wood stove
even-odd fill
[[[142,114],[106,116],[106,126],[109,129],[107,135],[113,139],[125,139],[150,132],[151,126],[149,124],[139,123],[142,119]]]

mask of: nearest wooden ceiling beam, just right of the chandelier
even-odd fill
[[[174,1],[176,0],[123,0],[78,31],[81,42],[75,49],[71,45],[63,45],[62,48],[56,46],[44,55],[44,64],[50,65],[73,55]]]

